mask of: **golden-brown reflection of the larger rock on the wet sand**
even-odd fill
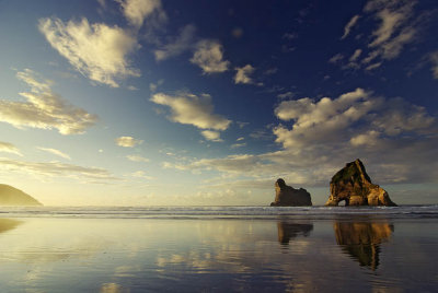
[[[376,270],[379,266],[380,244],[389,241],[394,227],[388,223],[336,222],[336,242],[343,251],[360,266]]]

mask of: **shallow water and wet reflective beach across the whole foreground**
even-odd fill
[[[0,215],[2,292],[438,289],[436,206],[2,208]]]

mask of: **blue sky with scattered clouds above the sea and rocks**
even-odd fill
[[[46,206],[438,203],[438,3],[0,1],[0,181]]]

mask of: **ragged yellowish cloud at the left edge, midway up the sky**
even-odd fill
[[[51,92],[48,80],[25,69],[16,77],[31,86],[31,92],[20,93],[27,102],[0,101],[0,121],[18,128],[56,128],[61,134],[83,133],[93,126],[97,116],[87,113]]]

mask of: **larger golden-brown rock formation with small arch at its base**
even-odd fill
[[[330,183],[325,206],[337,206],[343,200],[345,206],[396,206],[383,188],[371,183],[359,159],[337,172]]]

